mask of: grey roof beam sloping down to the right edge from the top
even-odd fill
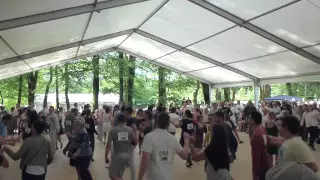
[[[283,46],[287,49],[289,49],[290,51],[294,52],[294,53],[297,53],[299,54],[300,56],[302,57],[305,57],[317,64],[320,64],[320,58],[317,57],[317,56],[314,56],[312,55],[311,53],[303,50],[302,48],[299,48],[269,32],[267,32],[266,30],[263,30],[261,28],[259,28],[258,26],[255,26],[253,24],[251,24],[250,22],[242,19],[242,18],[239,18],[238,16],[235,16],[205,0],[189,0],[190,2],[193,2],[194,4],[204,8],[204,9],[207,9],[208,11],[212,12],[212,13],[215,13],[235,24],[238,24],[240,27],[244,27],[246,28],[247,30],[253,32],[253,33],[256,33],[280,46]]]

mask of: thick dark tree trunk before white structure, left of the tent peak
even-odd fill
[[[95,55],[92,58],[92,67],[93,67],[93,80],[92,80],[92,89],[93,89],[93,110],[99,108],[99,55]]]

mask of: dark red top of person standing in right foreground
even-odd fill
[[[251,157],[252,157],[252,175],[259,177],[262,171],[271,167],[267,154],[267,136],[265,130],[257,127],[253,130],[251,137]]]

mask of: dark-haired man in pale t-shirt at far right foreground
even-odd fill
[[[309,147],[299,136],[300,122],[294,116],[286,116],[278,121],[280,136],[284,142],[279,148],[279,163],[298,162],[319,175],[319,169]]]

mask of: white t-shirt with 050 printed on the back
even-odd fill
[[[155,129],[144,137],[142,151],[150,153],[147,179],[172,180],[173,161],[183,149],[177,138],[166,129]]]

